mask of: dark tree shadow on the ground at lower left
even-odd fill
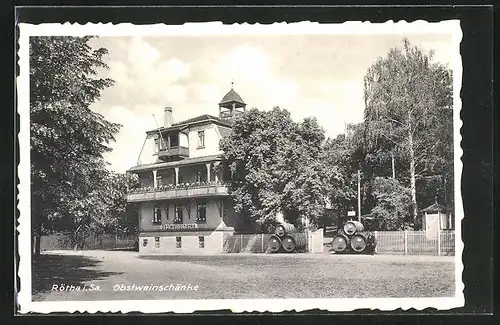
[[[41,255],[32,262],[32,300],[43,300],[52,286],[83,286],[83,282],[100,280],[123,272],[104,272],[87,269],[102,263],[99,260],[76,255]]]

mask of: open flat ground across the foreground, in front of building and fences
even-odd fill
[[[34,264],[34,300],[366,298],[454,296],[451,257],[229,254],[139,258],[60,252]],[[99,291],[57,292],[53,284]],[[197,291],[119,291],[116,285],[198,285]]]

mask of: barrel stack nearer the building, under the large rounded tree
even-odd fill
[[[290,223],[281,223],[269,238],[268,245],[271,253],[300,252],[307,247],[307,234],[298,232]]]

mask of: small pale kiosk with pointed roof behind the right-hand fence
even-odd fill
[[[437,201],[420,212],[422,213],[422,229],[428,239],[437,238],[438,232],[441,230],[453,229],[448,208]]]

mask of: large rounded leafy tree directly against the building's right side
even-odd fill
[[[221,167],[231,173],[235,210],[249,225],[274,221],[277,213],[297,223],[312,223],[322,214],[325,186],[322,154],[324,131],[314,118],[295,123],[275,107],[252,109],[221,140]]]

